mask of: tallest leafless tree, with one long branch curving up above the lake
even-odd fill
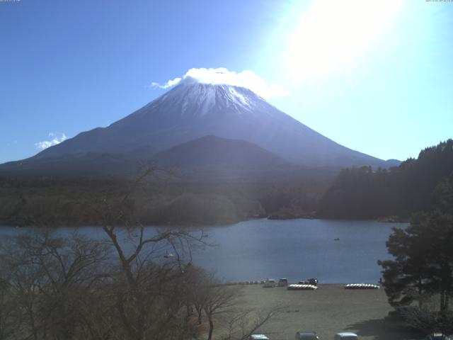
[[[193,249],[206,244],[202,230],[147,228],[133,220],[125,203],[156,171],[155,167],[144,171],[117,207],[105,202],[103,213],[102,228],[118,259],[113,307],[127,339],[173,339],[177,329],[188,327],[185,277]],[[169,252],[171,256],[164,258]]]

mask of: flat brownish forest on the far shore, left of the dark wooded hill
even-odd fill
[[[328,182],[177,183],[0,179],[0,225],[101,225],[103,210],[122,210],[144,225],[226,224],[316,210]]]

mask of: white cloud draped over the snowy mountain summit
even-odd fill
[[[166,81],[165,84],[151,83],[153,87],[168,89],[179,83],[199,82],[202,84],[223,84],[232,86],[241,86],[251,89],[253,92],[265,99],[278,98],[286,96],[288,92],[277,84],[268,84],[257,74],[244,70],[242,72],[229,71],[225,67],[217,69],[189,69],[183,78],[175,78]]]

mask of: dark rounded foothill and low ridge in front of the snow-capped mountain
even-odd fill
[[[8,162],[0,165],[0,177],[127,179],[134,178],[149,166],[158,166],[167,175],[176,176],[177,181],[188,182],[318,181],[333,179],[338,174],[338,168],[292,164],[244,140],[205,136],[166,149],[151,158],[137,158],[137,152],[79,152]]]

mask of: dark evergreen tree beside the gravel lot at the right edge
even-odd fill
[[[379,261],[384,288],[394,306],[410,305],[433,295],[440,312],[449,309],[453,295],[453,176],[435,190],[437,208],[413,215],[406,229],[394,228],[386,245],[394,260]]]

